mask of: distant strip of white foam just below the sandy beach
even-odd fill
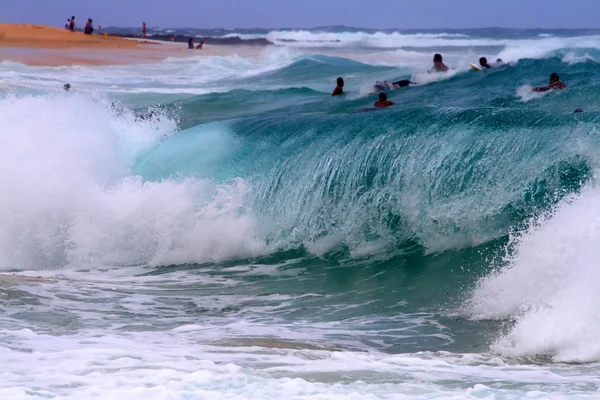
[[[256,54],[255,54],[256,53]],[[61,90],[65,82],[73,90],[136,91],[205,94],[231,90],[239,78],[249,78],[283,68],[302,55],[293,49],[226,56],[173,57],[164,62],[138,65],[29,67],[0,62],[0,77],[6,85],[21,88]]]

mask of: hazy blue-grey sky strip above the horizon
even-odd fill
[[[0,0],[0,23],[277,28],[596,28],[600,0]]]

